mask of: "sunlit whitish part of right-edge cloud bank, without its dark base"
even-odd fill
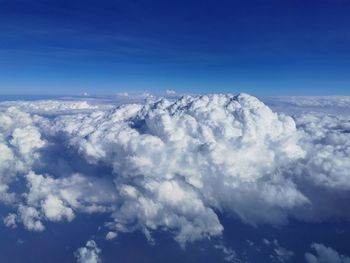
[[[350,189],[350,122],[344,117],[307,114],[297,120],[308,155],[305,170],[315,184]]]

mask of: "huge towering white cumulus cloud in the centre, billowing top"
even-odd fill
[[[250,223],[281,222],[286,209],[307,202],[278,175],[304,156],[293,120],[248,95],[163,99],[60,123],[89,162],[112,166],[122,200],[117,228],[136,220],[141,229],[176,229],[185,243],[222,232],[213,208]]]

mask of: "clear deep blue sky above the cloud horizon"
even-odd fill
[[[0,0],[0,94],[349,95],[347,0]]]

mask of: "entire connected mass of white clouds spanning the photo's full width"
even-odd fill
[[[350,219],[346,116],[292,118],[246,94],[0,104],[9,227],[108,213],[113,238],[140,230],[152,241],[161,229],[184,246],[220,236],[219,214],[253,225]]]

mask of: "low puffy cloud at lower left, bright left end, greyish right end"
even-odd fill
[[[26,175],[29,191],[26,203],[42,211],[50,221],[72,221],[74,210],[106,212],[115,201],[113,185],[102,179],[89,179],[79,174],[54,179],[30,172]]]

